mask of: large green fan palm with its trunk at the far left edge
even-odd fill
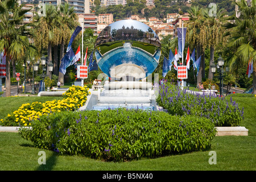
[[[22,9],[23,6],[15,0],[0,1],[0,51],[6,51],[6,97],[11,96],[10,57],[20,59],[29,46],[30,24],[22,25],[22,21],[30,10]]]

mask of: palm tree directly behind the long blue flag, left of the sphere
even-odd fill
[[[60,30],[60,60],[64,57],[65,44],[68,44],[69,39],[71,38],[73,31],[79,25],[77,22],[77,15],[72,6],[69,6],[68,3],[60,5],[58,7],[58,18],[57,22],[59,24]],[[64,75],[59,72],[59,81],[61,84],[64,84]]]

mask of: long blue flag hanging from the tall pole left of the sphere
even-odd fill
[[[75,57],[75,53],[71,45],[73,43],[73,40],[76,38],[76,36],[79,34],[81,30],[82,30],[82,27],[80,26],[76,27],[76,30],[73,32],[71,39],[69,40],[68,48],[65,53],[65,56],[61,59],[59,72],[63,73],[63,75],[65,75],[66,69],[71,65],[72,60]]]

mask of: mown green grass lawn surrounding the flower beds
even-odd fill
[[[38,98],[38,97],[36,97]],[[1,118],[18,105],[32,102],[33,98],[0,98]],[[20,99],[20,100],[19,100]],[[52,98],[53,99],[53,98]],[[22,139],[18,133],[0,133],[1,171],[254,171],[256,169],[256,98],[233,98],[245,107],[242,126],[249,129],[249,136],[214,137],[208,151],[165,156],[155,159],[141,159],[131,162],[114,163],[85,158],[84,156],[64,156],[56,152],[34,147],[30,141]],[[34,101],[34,100],[33,100]],[[11,106],[9,105],[11,104]],[[8,105],[8,109],[6,108]],[[15,106],[14,106],[15,105]],[[9,109],[10,107],[10,109]],[[46,165],[39,165],[39,151],[46,152]],[[217,164],[210,165],[209,151],[215,151]]]

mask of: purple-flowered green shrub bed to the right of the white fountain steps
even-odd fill
[[[160,85],[156,101],[170,114],[208,118],[216,126],[239,126],[243,119],[243,109],[238,107],[232,97],[225,100],[224,97],[213,95],[191,94],[170,84]]]

